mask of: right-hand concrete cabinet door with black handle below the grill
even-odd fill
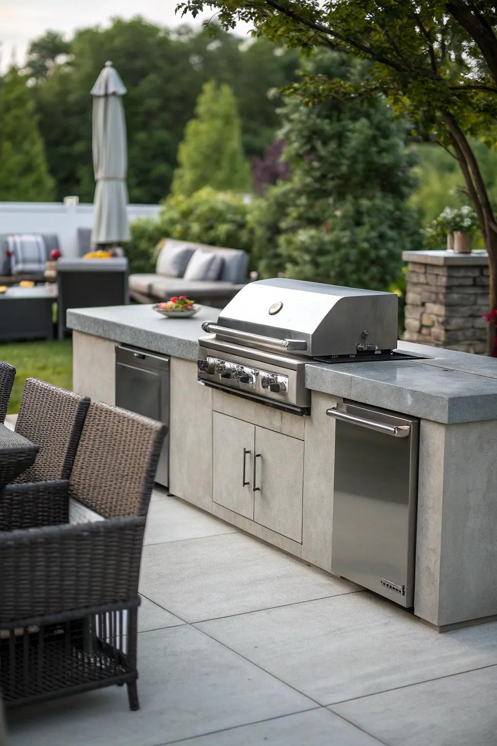
[[[254,521],[302,542],[304,444],[256,427]]]

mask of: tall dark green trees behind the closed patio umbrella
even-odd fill
[[[114,19],[108,28],[80,29],[64,48],[59,41],[48,31],[28,53],[57,199],[69,194],[93,199],[89,90],[106,60],[113,60],[128,91],[127,184],[130,201],[138,203],[156,203],[168,193],[178,144],[206,81],[232,88],[244,151],[253,157],[262,154],[276,128],[278,102],[267,92],[288,84],[297,66],[295,51],[282,52],[268,40],[247,45],[221,29],[173,32],[139,16]]]

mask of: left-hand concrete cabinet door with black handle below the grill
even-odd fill
[[[212,413],[212,499],[253,520],[255,426]]]

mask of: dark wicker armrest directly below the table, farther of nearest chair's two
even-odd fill
[[[69,482],[9,484],[0,492],[0,531],[69,522]]]

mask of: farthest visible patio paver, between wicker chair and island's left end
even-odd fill
[[[161,497],[148,508],[144,544],[198,539],[218,533],[237,533],[237,529],[179,498]]]

